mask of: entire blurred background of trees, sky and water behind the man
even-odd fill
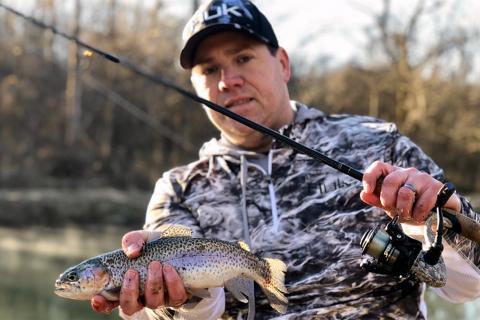
[[[189,89],[180,35],[201,2],[0,0]],[[478,1],[254,2],[293,99],[395,122],[480,208]],[[117,318],[54,296],[55,278],[141,228],[156,179],[216,135],[196,103],[0,8],[1,318]],[[480,312],[427,301],[430,319]]]

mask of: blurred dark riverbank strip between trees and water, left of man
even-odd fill
[[[0,189],[0,226],[140,228],[151,192],[98,189]]]

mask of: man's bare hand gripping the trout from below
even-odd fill
[[[140,255],[143,245],[147,241],[157,239],[161,233],[149,231],[132,231],[122,238],[122,248],[130,258]],[[183,281],[176,270],[169,265],[153,261],[148,265],[147,280],[145,283],[145,304],[140,300],[140,278],[138,272],[130,269],[125,273],[120,300],[108,301],[101,295],[91,300],[93,310],[101,313],[110,313],[120,306],[123,313],[132,315],[144,307],[156,309],[162,306],[180,307],[188,298]]]

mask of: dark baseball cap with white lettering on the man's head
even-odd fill
[[[247,0],[212,0],[201,5],[183,30],[180,64],[193,67],[195,51],[206,37],[223,32],[239,31],[265,44],[278,48],[272,25],[258,8]]]

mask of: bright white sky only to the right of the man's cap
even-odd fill
[[[381,12],[381,0],[259,0],[258,6],[264,8],[265,14],[271,16],[280,41],[290,51],[305,52],[306,56],[315,56],[316,52],[331,54],[339,61],[346,61],[358,56],[365,48],[365,28],[372,25],[372,14]],[[392,12],[399,19],[410,17],[418,0],[392,0]],[[433,3],[434,1],[426,1]],[[436,23],[445,21],[455,5],[457,17],[455,23],[473,25],[479,23],[480,1],[446,0],[445,9],[439,11]],[[284,19],[283,17],[288,17]],[[461,16],[461,18],[460,18]],[[422,28],[430,30],[433,19],[424,19]],[[444,20],[444,21],[442,21]],[[398,21],[398,27],[405,27],[405,19]],[[312,32],[313,31],[313,32]],[[429,31],[427,31],[428,33]],[[315,37],[316,33],[316,37]],[[303,35],[313,35],[315,41],[302,42]],[[432,35],[425,35],[428,41]]]

